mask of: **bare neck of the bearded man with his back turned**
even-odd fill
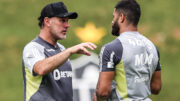
[[[134,32],[137,31],[137,27],[129,24],[129,25],[122,25],[120,26],[120,30],[119,33],[123,33],[123,32]]]

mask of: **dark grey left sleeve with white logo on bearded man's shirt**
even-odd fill
[[[122,45],[120,40],[115,39],[105,44],[100,52],[99,62],[101,71],[114,71],[114,67],[121,61]]]

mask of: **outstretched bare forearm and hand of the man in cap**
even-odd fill
[[[90,55],[90,52],[86,48],[94,50],[96,46],[90,42],[87,42],[70,47],[54,56],[38,61],[35,63],[33,71],[38,75],[48,74],[57,67],[61,66],[72,54],[79,53]]]

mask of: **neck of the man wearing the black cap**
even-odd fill
[[[52,35],[51,35],[51,33],[49,32],[49,30],[41,29],[39,36],[40,36],[43,40],[47,41],[48,43],[50,43],[50,44],[52,44],[54,47],[56,47],[56,42],[57,42],[57,40],[55,40],[55,39],[52,37]]]

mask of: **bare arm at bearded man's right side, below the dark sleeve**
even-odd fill
[[[159,94],[161,85],[161,71],[155,71],[151,79],[151,93]]]

